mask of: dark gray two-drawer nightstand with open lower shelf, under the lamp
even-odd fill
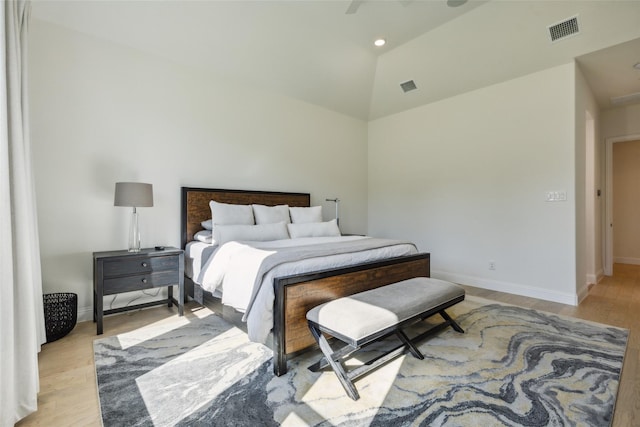
[[[173,298],[173,285],[178,286],[178,299]],[[109,310],[103,308],[103,297],[121,292],[168,287],[166,299]],[[98,335],[106,314],[121,313],[154,305],[178,306],[184,313],[184,252],[178,248],[142,249],[140,252],[108,251],[93,253],[93,321]]]

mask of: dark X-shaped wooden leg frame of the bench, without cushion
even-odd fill
[[[353,381],[355,381],[357,378],[362,377],[363,375],[367,374],[373,369],[376,369],[382,364],[396,358],[397,356],[403,354],[406,350],[409,350],[409,352],[411,352],[411,354],[414,357],[418,359],[424,359],[424,356],[422,355],[420,350],[418,350],[415,343],[423,340],[427,336],[432,335],[448,326],[451,326],[456,332],[464,333],[464,330],[460,327],[460,325],[458,325],[458,323],[456,323],[456,321],[453,320],[445,312],[445,309],[455,304],[458,304],[463,300],[464,300],[464,295],[457,297],[455,299],[452,299],[450,301],[447,301],[436,307],[432,307],[426,311],[423,311],[421,313],[416,314],[415,316],[410,317],[409,319],[404,320],[403,322],[399,322],[397,324],[391,325],[379,332],[376,332],[375,334],[363,337],[361,339],[353,339],[353,338],[344,336],[339,332],[333,331],[329,328],[319,325],[318,323],[312,320],[308,320],[308,325],[309,325],[309,329],[311,330],[311,334],[315,338],[323,354],[323,357],[320,358],[320,360],[318,360],[313,365],[309,366],[309,370],[311,370],[312,372],[317,372],[321,369],[326,368],[327,366],[331,366],[336,376],[338,377],[338,380],[342,384],[342,387],[344,387],[345,391],[347,392],[347,395],[353,400],[358,400],[360,398],[360,395],[358,394],[358,390],[356,390],[356,387],[353,385]],[[432,326],[425,332],[411,339],[407,337],[407,335],[404,333],[403,328],[410,326],[414,323],[417,323],[419,321],[425,320],[435,314],[440,314],[440,316],[442,316],[444,321],[435,326]],[[337,340],[344,342],[345,345],[339,348],[338,350],[334,350],[329,344],[329,341],[327,340],[327,338],[323,333],[328,334],[336,338]],[[400,339],[402,344],[398,347],[394,347],[391,350],[388,350],[386,353],[373,358],[372,360],[362,364],[361,366],[358,366],[357,368],[347,370],[347,368],[343,363],[344,359],[346,359],[356,351],[362,349],[363,347],[391,335],[396,335]]]

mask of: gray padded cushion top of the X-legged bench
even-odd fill
[[[307,319],[358,341],[464,294],[454,283],[416,277],[326,302]]]

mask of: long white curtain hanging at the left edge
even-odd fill
[[[0,425],[37,409],[46,341],[27,102],[31,3],[2,2],[0,70]]]

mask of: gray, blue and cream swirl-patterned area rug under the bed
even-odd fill
[[[355,381],[271,351],[208,310],[94,341],[105,426],[607,426],[628,331],[467,297],[448,328]],[[368,360],[396,342],[370,346]],[[358,360],[350,363],[359,363]]]

